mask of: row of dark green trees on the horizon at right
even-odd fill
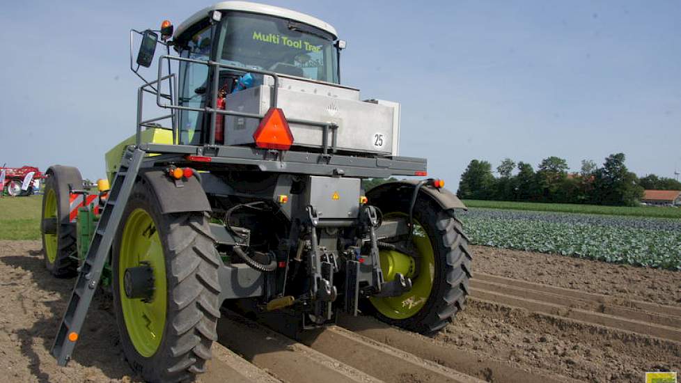
[[[650,174],[639,178],[625,166],[624,153],[606,157],[602,166],[593,160],[581,162],[577,173],[569,173],[560,157],[542,160],[537,170],[531,164],[503,159],[492,173],[492,164],[473,159],[461,175],[457,195],[462,199],[595,205],[638,205],[644,189],[681,190],[681,182]]]

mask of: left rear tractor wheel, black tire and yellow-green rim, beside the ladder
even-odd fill
[[[149,382],[182,382],[203,373],[220,316],[220,259],[208,214],[161,214],[157,196],[139,182],[111,263],[116,322],[130,366]],[[128,297],[125,271],[143,265],[152,268],[152,297]]]

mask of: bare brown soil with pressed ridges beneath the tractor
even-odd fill
[[[681,368],[678,272],[473,247],[471,299],[435,337],[370,317],[299,333],[234,313],[202,382],[643,382]],[[73,280],[38,241],[0,241],[0,368],[12,382],[136,382],[109,299],[91,306],[69,366],[49,355]],[[231,351],[230,351],[231,350]]]

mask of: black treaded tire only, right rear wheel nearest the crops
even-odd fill
[[[413,190],[409,188],[409,191]],[[400,198],[402,194],[403,198]],[[411,193],[396,193],[370,199],[383,214],[391,212],[407,213]],[[462,311],[469,294],[471,278],[471,252],[468,237],[462,232],[462,224],[454,217],[453,210],[442,210],[427,196],[420,194],[414,207],[414,219],[418,221],[430,238],[435,255],[435,281],[428,300],[423,308],[410,318],[396,320],[372,309],[374,315],[383,322],[402,327],[420,334],[435,334],[451,322]],[[368,302],[367,302],[368,303]],[[366,306],[371,306],[366,304]]]

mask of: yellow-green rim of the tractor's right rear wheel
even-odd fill
[[[385,217],[396,217],[405,214],[389,213]],[[399,297],[370,298],[373,306],[388,318],[402,320],[411,318],[425,305],[430,297],[433,281],[435,281],[435,253],[428,235],[423,230],[423,226],[414,221],[414,236],[412,237],[414,247],[421,258],[418,269],[418,276],[412,279],[412,290],[405,292]],[[380,251],[381,269],[386,281],[395,279],[396,273],[402,273],[407,277],[415,274],[416,262],[412,256],[395,250]]]

